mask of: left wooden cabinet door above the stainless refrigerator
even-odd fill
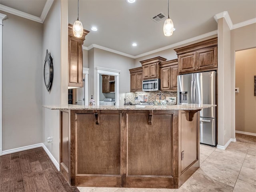
[[[179,55],[178,63],[180,72],[196,70],[196,52]]]

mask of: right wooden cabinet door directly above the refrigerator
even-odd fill
[[[204,48],[202,50],[197,51],[196,54],[197,54],[196,70],[215,68],[218,66],[217,46]]]

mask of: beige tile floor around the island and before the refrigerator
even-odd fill
[[[200,145],[200,168],[179,189],[78,187],[80,192],[256,192],[256,145]]]

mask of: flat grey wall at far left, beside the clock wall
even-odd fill
[[[42,24],[3,21],[3,150],[42,142]]]

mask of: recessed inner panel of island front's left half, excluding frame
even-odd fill
[[[120,176],[120,114],[76,114],[76,174]]]

